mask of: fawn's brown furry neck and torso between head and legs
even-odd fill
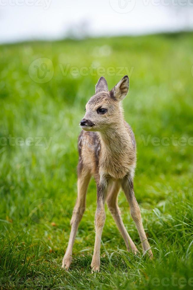
[[[82,166],[96,178],[99,168],[112,178],[123,178],[135,168],[135,137],[130,126],[108,130],[108,133],[81,131],[78,138],[78,176]],[[121,149],[121,150],[120,150]]]

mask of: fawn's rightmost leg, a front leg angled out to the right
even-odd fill
[[[142,247],[143,247],[143,252],[144,253],[148,252],[149,256],[151,258],[153,258],[153,253],[151,251],[150,245],[148,243],[148,239],[146,237],[146,234],[145,234],[145,231],[143,228],[140,208],[139,208],[138,202],[135,198],[135,194],[134,194],[134,190],[133,190],[133,179],[131,178],[130,175],[123,178],[122,189],[125,192],[126,198],[129,202],[131,216],[132,216],[132,218],[135,222],[135,225],[137,227],[139,237],[140,237]]]

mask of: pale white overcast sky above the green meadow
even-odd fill
[[[193,29],[193,1],[169,1],[0,0],[0,42]]]

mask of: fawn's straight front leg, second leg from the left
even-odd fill
[[[107,179],[105,177],[100,178],[100,181],[96,181],[97,186],[97,208],[95,213],[95,243],[94,253],[91,262],[92,272],[99,271],[100,269],[100,247],[101,247],[101,236],[105,222],[105,209],[104,202],[107,191]]]

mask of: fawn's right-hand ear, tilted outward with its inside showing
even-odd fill
[[[128,89],[129,89],[129,78],[128,75],[125,75],[120,80],[120,82],[117,83],[116,86],[114,86],[114,88],[112,88],[112,90],[110,91],[110,95],[116,100],[121,101],[126,97]]]

